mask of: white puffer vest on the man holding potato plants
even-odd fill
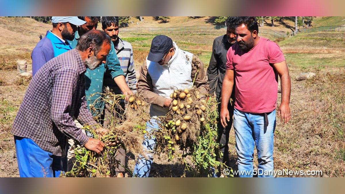
[[[173,42],[175,54],[168,61],[167,65],[159,65],[157,62],[149,61],[146,58],[147,71],[152,79],[154,93],[169,98],[175,89],[191,88],[193,54],[181,50]],[[163,108],[154,104],[150,107],[150,116],[163,116],[169,111],[169,107]]]

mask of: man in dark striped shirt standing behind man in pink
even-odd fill
[[[207,68],[208,83],[210,85],[209,94],[216,93],[217,102],[220,102],[220,91],[223,84],[226,67],[226,53],[231,46],[236,42],[235,27],[233,23],[237,17],[228,17],[226,20],[226,34],[215,38],[213,41],[212,55],[209,66]],[[234,92],[231,98],[234,99]],[[224,162],[229,166],[229,132],[233,122],[234,105],[229,103],[228,110],[230,113],[230,121],[224,128],[218,119],[218,142],[220,144],[220,151],[223,153],[223,158],[217,155],[217,160]],[[220,104],[218,104],[218,112],[220,114]],[[220,171],[218,171],[220,172]]]

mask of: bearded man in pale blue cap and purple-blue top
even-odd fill
[[[32,76],[50,59],[71,50],[67,40],[73,40],[77,26],[86,23],[74,16],[53,16],[51,22],[53,29],[47,31],[46,37],[42,38],[32,50]]]

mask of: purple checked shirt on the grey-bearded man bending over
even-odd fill
[[[88,137],[72,117],[82,125],[96,124],[85,101],[85,71],[76,49],[43,65],[30,81],[11,133],[57,156],[65,149],[66,136],[84,145]]]

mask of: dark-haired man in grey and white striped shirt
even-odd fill
[[[120,61],[120,66],[122,71],[124,71],[126,83],[130,90],[135,94],[136,93],[136,84],[137,77],[134,69],[134,60],[133,60],[133,49],[129,42],[124,41],[118,37],[119,35],[119,20],[118,17],[102,17],[101,19],[102,29],[107,35],[111,38],[111,41],[114,43],[116,55]],[[104,75],[103,86],[111,89],[115,94],[121,94],[119,86],[111,79],[109,71],[106,70]],[[103,87],[103,88],[104,88]],[[120,115],[123,114],[125,110],[125,101],[121,101],[121,108],[115,108],[111,113],[111,108],[106,104],[105,108],[105,118],[104,118],[104,127],[107,127],[110,123],[111,117],[118,118],[117,113]],[[118,153],[115,157],[117,165],[115,168],[115,174],[120,177],[122,172],[125,171],[125,160],[126,160],[126,151],[124,148],[119,148]]]

